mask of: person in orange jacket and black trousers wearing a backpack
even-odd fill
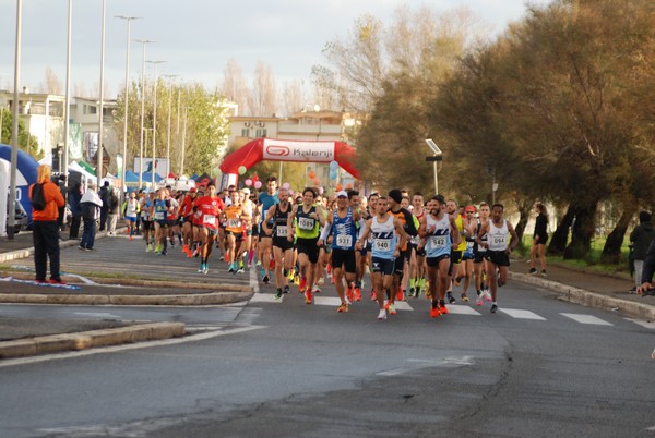
[[[46,282],[48,257],[50,258],[49,283],[64,284],[59,272],[59,208],[64,206],[63,196],[59,186],[50,181],[50,167],[41,165],[37,169],[37,184],[43,184],[44,200],[46,207],[43,210],[32,210],[34,239],[34,267],[36,269],[36,281]],[[29,199],[34,185],[29,186]]]

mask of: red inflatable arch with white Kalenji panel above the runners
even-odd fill
[[[257,138],[248,142],[238,150],[225,157],[221,163],[222,186],[236,184],[241,166],[250,169],[261,160],[295,162],[336,161],[355,178],[359,172],[353,166],[355,149],[344,142],[294,141],[277,138]]]

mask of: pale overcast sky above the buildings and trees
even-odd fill
[[[532,0],[544,4],[547,0]],[[21,87],[37,88],[47,68],[66,77],[69,0],[23,0]],[[71,84],[87,89],[99,83],[102,0],[73,0]],[[345,37],[354,21],[371,13],[391,23],[403,4],[437,11],[467,7],[496,33],[521,19],[525,0],[107,0],[105,82],[112,98],[124,83],[127,25],[115,15],[141,16],[132,22],[132,39],[154,39],[146,59],[166,61],[158,74],[213,87],[234,58],[250,75],[258,60],[278,82],[309,81],[321,63],[325,42]],[[0,0],[0,89],[13,84],[16,0]],[[141,73],[142,45],[130,45],[130,77]],[[146,64],[146,74],[153,68]]]

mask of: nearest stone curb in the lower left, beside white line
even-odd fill
[[[79,333],[16,339],[0,342],[0,358],[35,356],[62,351],[179,338],[184,334],[184,331],[186,326],[182,323],[148,323]]]

